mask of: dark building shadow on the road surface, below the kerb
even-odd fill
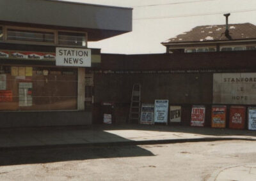
[[[110,134],[110,133],[104,133]],[[115,136],[115,135],[111,135]],[[119,136],[118,136],[119,137]],[[122,138],[124,139],[124,138]],[[124,139],[125,140],[125,139]],[[99,146],[83,147],[83,145],[66,145],[65,147],[24,148],[0,151],[0,166],[17,164],[54,163],[60,161],[76,161],[88,159],[104,159],[112,157],[154,156],[152,152],[138,147],[129,146]]]

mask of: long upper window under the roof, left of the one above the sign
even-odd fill
[[[7,40],[54,43],[54,33],[43,31],[7,29]]]

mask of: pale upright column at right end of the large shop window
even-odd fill
[[[77,110],[84,110],[85,68],[77,70]]]

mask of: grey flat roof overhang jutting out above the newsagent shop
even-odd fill
[[[132,31],[132,8],[54,0],[1,0],[0,22],[88,32],[98,41]]]

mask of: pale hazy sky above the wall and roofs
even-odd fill
[[[101,48],[106,54],[161,54],[161,42],[198,25],[256,25],[256,0],[66,0],[133,8],[132,32],[102,41],[88,42],[88,48]]]

